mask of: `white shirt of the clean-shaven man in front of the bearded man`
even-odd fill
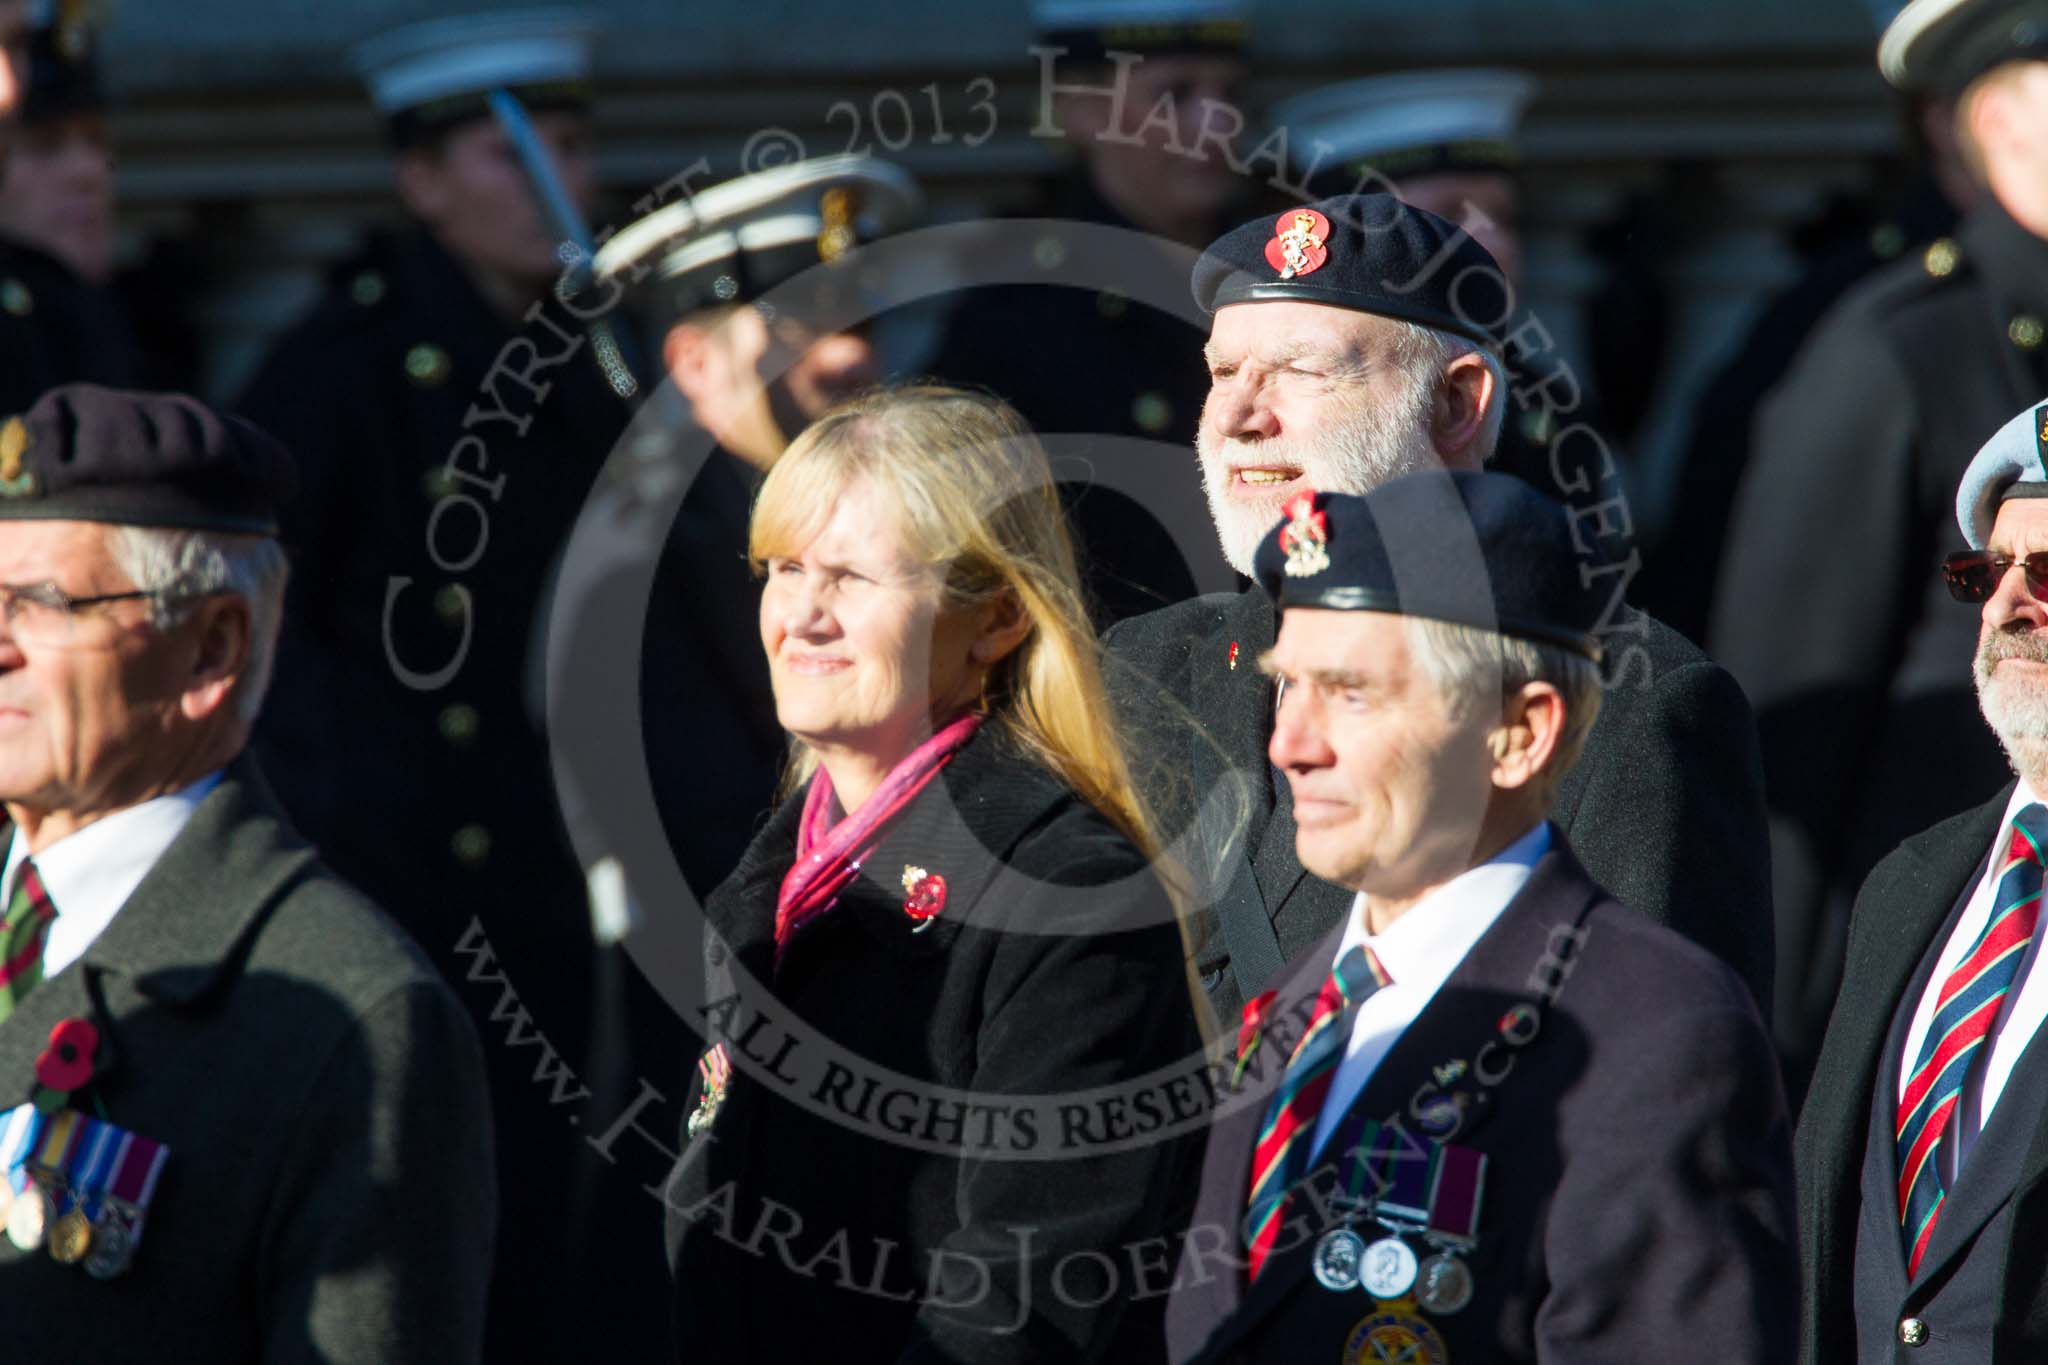
[[[1389,984],[1374,990],[1352,1021],[1352,1042],[1337,1064],[1323,1111],[1315,1119],[1315,1148],[1323,1150],[1337,1119],[1372,1081],[1372,1072],[1393,1046],[1436,999],[1438,988],[1458,970],[1473,943],[1485,937],[1507,902],[1528,884],[1536,860],[1550,851],[1550,823],[1540,821],[1491,860],[1460,872],[1409,907],[1386,933],[1366,931],[1366,894],[1352,900],[1335,962],[1360,943],[1386,968]]]

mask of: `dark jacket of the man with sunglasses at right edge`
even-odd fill
[[[1870,1142],[1872,1124],[1888,1130],[1894,1117],[1905,1021],[1989,864],[2011,790],[1907,839],[1855,898],[1843,990],[1798,1126],[1800,1351],[1817,1365],[1872,1359],[1878,1345],[1909,1359],[2048,1359],[2048,1238],[2038,1232],[2048,1220],[2048,1052],[2040,1042],[2021,1054],[1970,1148],[1911,1285],[1896,1232],[1896,1158],[1890,1142]],[[1884,1177],[1876,1183],[1872,1158]],[[2015,1228],[2025,1232],[2015,1236]],[[1927,1322],[1925,1347],[1898,1349],[1905,1316]]]

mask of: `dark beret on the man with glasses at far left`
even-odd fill
[[[291,454],[182,393],[51,389],[0,422],[0,520],[274,536]]]

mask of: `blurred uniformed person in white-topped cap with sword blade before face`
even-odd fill
[[[240,399],[303,483],[260,735],[279,794],[485,1040],[502,1189],[487,1359],[567,1359],[590,1320],[625,1353],[666,1330],[659,1209],[588,1150],[569,1103],[627,1085],[631,1056],[604,1044],[627,1031],[635,978],[594,941],[524,696],[549,565],[631,409],[551,297],[561,229],[487,104],[520,102],[588,215],[590,43],[578,12],[524,10],[356,49],[410,221],[334,272]],[[465,984],[475,972],[502,972],[510,1003]]]

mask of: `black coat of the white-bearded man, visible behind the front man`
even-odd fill
[[[1602,700],[1552,819],[1593,880],[1714,952],[1767,1003],[1769,849],[1749,706],[1679,634],[1647,616],[1636,620],[1642,643],[1626,645],[1636,667]],[[1110,688],[1124,724],[1145,737],[1139,782],[1165,827],[1196,819],[1196,796],[1208,804],[1198,843],[1221,866],[1210,868],[1212,921],[1200,968],[1225,1023],[1352,902],[1348,890],[1303,872],[1292,796],[1266,759],[1274,704],[1257,659],[1274,632],[1272,604],[1253,589],[1194,598],[1106,636]],[[1231,792],[1239,808],[1231,808]],[[1262,945],[1266,923],[1272,929]],[[1247,956],[1262,948],[1257,960]]]

